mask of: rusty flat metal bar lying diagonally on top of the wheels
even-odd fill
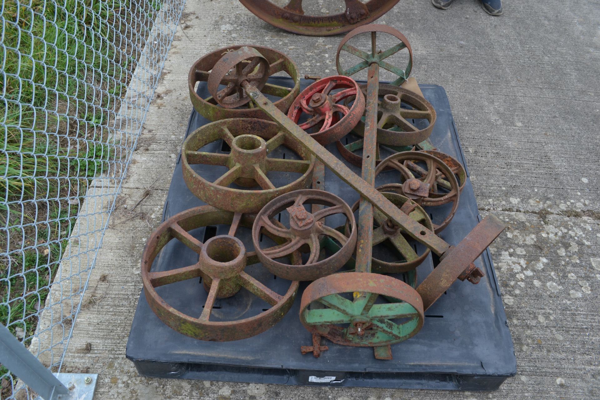
[[[281,125],[291,136],[302,143],[308,151],[310,151],[318,160],[322,161],[335,175],[346,182],[350,187],[356,190],[362,197],[368,199],[374,207],[379,209],[383,214],[391,218],[395,224],[400,225],[406,230],[411,237],[420,243],[423,243],[433,252],[442,255],[448,248],[449,244],[437,237],[436,234],[425,228],[419,222],[414,221],[398,207],[386,199],[383,194],[379,193],[373,185],[365,182],[364,179],[352,172],[346,164],[338,160],[337,157],[329,153],[322,145],[310,137],[304,130],[296,125],[291,119],[275,107],[268,98],[265,97],[258,89],[250,82],[244,81],[241,84],[248,96],[252,98],[254,103],[267,113],[271,118]]]

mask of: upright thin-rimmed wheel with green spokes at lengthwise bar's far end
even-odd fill
[[[395,36],[396,38],[398,38],[398,40],[400,40],[400,43],[386,50],[377,50],[377,32]],[[361,49],[357,49],[356,47],[347,44],[347,41],[349,41],[351,38],[364,33],[371,34],[370,52],[364,52]],[[406,69],[403,70],[402,68],[395,67],[394,65],[391,65],[389,64],[389,62],[385,61],[386,58],[388,58],[391,55],[394,55],[395,53],[403,49],[407,49],[409,52],[409,62],[406,66]],[[358,58],[361,58],[363,61],[359,62],[356,65],[353,65],[350,68],[344,69],[342,68],[340,62],[341,50],[355,55]],[[340,46],[338,46],[337,56],[335,57],[335,63],[337,65],[338,74],[346,76],[352,76],[358,73],[359,71],[364,70],[373,63],[379,64],[380,68],[390,71],[391,73],[396,74],[398,76],[398,78],[394,80],[394,82],[391,82],[391,84],[394,86],[400,86],[405,80],[409,78],[410,70],[412,70],[412,49],[410,48],[410,43],[407,40],[407,38],[403,34],[398,32],[396,29],[391,28],[391,26],[377,24],[365,25],[354,29],[352,32],[344,36],[344,38],[340,42]]]

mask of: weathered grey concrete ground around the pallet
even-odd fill
[[[190,0],[92,271],[86,296],[94,302],[79,314],[65,357],[66,371],[100,374],[95,399],[600,398],[598,2],[506,0],[504,15],[491,17],[476,0],[446,11],[401,0],[379,23],[409,38],[418,82],[448,92],[479,207],[509,224],[492,251],[517,376],[496,392],[469,393],[137,375],[125,344],[142,288],[140,255],[160,222],[191,111],[188,68],[219,47],[254,43],[285,52],[302,74],[326,76],[341,40],[272,28],[235,0]],[[148,193],[136,209],[142,218],[129,219],[124,206]]]

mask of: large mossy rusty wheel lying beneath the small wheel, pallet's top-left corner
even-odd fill
[[[215,67],[215,64],[217,64],[217,62],[220,61],[224,55],[241,49],[242,47],[250,47],[251,49],[257,50],[260,55],[266,59],[266,61],[269,63],[267,77],[280,73],[281,71],[292,77],[292,81],[294,83],[293,88],[286,88],[284,86],[273,85],[272,83],[265,83],[265,85],[263,85],[260,89],[260,91],[262,91],[265,95],[279,97],[277,101],[274,101],[275,107],[280,109],[282,112],[287,112],[290,104],[292,104],[292,101],[300,92],[300,75],[298,74],[298,67],[296,67],[296,64],[294,64],[294,62],[283,53],[274,49],[269,49],[269,47],[254,45],[223,47],[223,49],[208,53],[194,62],[194,65],[192,65],[190,68],[190,74],[188,75],[188,87],[190,90],[191,103],[193,104],[194,109],[196,109],[200,115],[206,119],[209,119],[210,121],[219,121],[220,119],[227,118],[261,118],[270,120],[270,118],[264,112],[262,112],[260,109],[254,108],[254,104],[251,102],[245,103],[244,107],[247,108],[224,108],[218,105],[214,97],[211,96],[206,99],[201,98],[194,89],[197,82],[208,81],[212,68]],[[232,71],[232,73],[235,75],[234,71]],[[214,79],[217,79],[216,75],[214,76]],[[228,77],[225,80],[227,81],[228,79],[233,78]],[[230,82],[224,83],[229,84]],[[247,97],[242,95],[242,99],[245,101]]]

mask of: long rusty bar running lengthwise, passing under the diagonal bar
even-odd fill
[[[373,53],[376,53],[376,32],[371,32]],[[369,65],[367,75],[367,112],[362,148],[362,179],[375,185],[375,161],[377,159],[377,92],[379,87],[379,64]],[[356,272],[371,272],[373,259],[373,204],[361,197],[358,206],[358,240],[356,242]]]

